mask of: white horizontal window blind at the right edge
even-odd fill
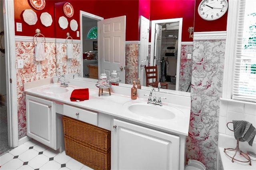
[[[232,99],[256,102],[256,0],[240,0]]]

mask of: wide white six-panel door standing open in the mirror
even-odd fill
[[[108,76],[113,70],[125,83],[125,30],[126,16],[108,18],[100,21],[100,73]]]

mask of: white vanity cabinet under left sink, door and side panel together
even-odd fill
[[[26,95],[26,119],[29,137],[55,150],[60,148],[62,115],[56,114],[54,102]]]

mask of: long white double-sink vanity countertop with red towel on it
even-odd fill
[[[40,86],[35,87],[35,84],[41,84]],[[74,83],[76,84],[76,83]],[[77,83],[79,84],[79,82]],[[164,131],[173,132],[176,134],[182,134],[182,135],[188,135],[188,128],[189,128],[189,120],[190,120],[190,103],[188,104],[177,104],[176,103],[165,103],[163,102],[163,105],[169,105],[171,107],[175,107],[176,109],[180,110],[182,114],[177,115],[174,119],[150,119],[145,118],[139,115],[135,115],[134,113],[131,113],[128,111],[128,109],[125,109],[123,106],[124,103],[129,101],[134,101],[130,98],[128,95],[123,94],[117,94],[113,91],[126,91],[124,87],[118,87],[118,86],[112,86],[111,88],[111,95],[108,93],[108,89],[104,89],[103,95],[98,96],[98,88],[95,86],[95,83],[93,82],[86,82],[85,84],[81,84],[82,87],[74,86],[72,83],[70,83],[69,87],[66,87],[69,91],[66,93],[44,93],[42,92],[43,87],[47,87],[49,83],[33,83],[33,85],[26,85],[25,87],[25,93],[29,95],[34,95],[38,97],[43,97],[52,101],[56,101],[58,103],[73,105],[76,107],[84,108],[84,109],[90,109],[94,110],[100,113],[105,113],[108,115],[112,115],[114,117],[119,117],[122,119],[127,119],[129,121],[134,121],[137,123],[141,123],[143,125],[147,125],[154,128],[159,128]],[[29,87],[30,86],[30,87]],[[33,87],[34,86],[34,87]],[[54,86],[59,86],[57,84],[54,84]],[[31,88],[32,87],[32,88]],[[72,102],[70,101],[70,95],[74,89],[82,89],[82,88],[89,88],[89,100],[80,101],[80,102]],[[128,89],[128,93],[130,93],[130,89]],[[126,91],[126,94],[127,94]],[[142,101],[147,102],[147,97],[144,97],[142,93],[148,94],[148,91],[138,91],[139,96],[143,96],[142,98],[137,98],[136,101]],[[175,96],[168,95],[169,98],[174,98]],[[182,101],[182,97],[177,97],[178,100]],[[185,99],[187,100],[187,99]],[[187,100],[188,101],[188,100]],[[155,106],[155,107],[161,107],[161,106]],[[156,113],[157,114],[157,113]]]

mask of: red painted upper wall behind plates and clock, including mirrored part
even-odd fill
[[[36,10],[30,5],[29,0],[14,0],[14,24],[16,36],[34,36],[36,34],[35,30],[39,28],[41,33],[48,38],[66,38],[66,33],[69,32],[73,39],[79,40],[80,38],[76,37],[76,32],[72,31],[69,26],[65,30],[62,30],[58,24],[58,18],[60,16],[65,16],[63,12],[63,5],[65,2],[70,2],[74,8],[74,15],[71,18],[66,18],[68,19],[68,22],[75,19],[78,22],[78,30],[80,30],[80,10],[101,16],[104,19],[126,15],[126,41],[139,40],[138,19],[141,14],[150,20],[183,18],[182,42],[192,41],[192,38],[189,38],[188,32],[188,27],[190,26],[194,26],[195,32],[225,31],[227,24],[227,13],[222,16],[222,18],[215,21],[206,21],[200,18],[197,8],[201,0],[196,0],[196,4],[194,0],[45,1],[45,8],[43,10]],[[38,21],[33,26],[26,24],[23,20],[22,13],[26,9],[32,9],[37,14]],[[53,22],[49,27],[45,27],[40,22],[40,15],[43,12],[48,12],[52,16]],[[22,23],[22,32],[16,31],[16,22]]]

